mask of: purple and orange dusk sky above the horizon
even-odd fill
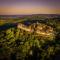
[[[0,0],[0,15],[60,14],[60,0]]]

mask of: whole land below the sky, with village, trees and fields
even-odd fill
[[[60,15],[0,15],[0,60],[60,60]]]

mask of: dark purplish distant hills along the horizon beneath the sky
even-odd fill
[[[45,17],[60,17],[60,14],[31,14],[31,15],[0,15],[2,18],[23,18],[23,17],[32,17],[32,16],[45,16]]]

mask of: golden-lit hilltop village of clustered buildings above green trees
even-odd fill
[[[29,26],[19,23],[17,25],[17,28],[26,32],[35,33],[37,36],[49,37],[54,35],[54,29],[51,26],[47,26],[43,23],[38,22],[33,23]]]

